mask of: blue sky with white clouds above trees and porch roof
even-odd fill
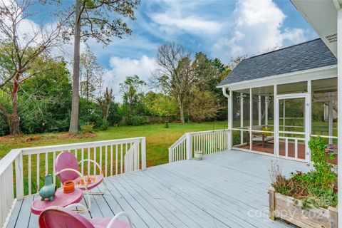
[[[129,21],[133,33],[125,39],[113,38],[105,48],[88,41],[115,90],[126,76],[147,80],[163,43],[180,43],[192,53],[202,51],[229,63],[235,56],[318,37],[291,1],[284,0],[141,0],[136,17]]]

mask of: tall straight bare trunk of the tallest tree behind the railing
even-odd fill
[[[78,133],[78,105],[80,89],[80,43],[81,43],[81,0],[76,0],[76,22],[73,44],[73,101],[71,105],[71,118],[69,133]]]

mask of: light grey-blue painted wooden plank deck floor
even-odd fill
[[[279,162],[284,174],[308,170],[301,162],[235,150],[218,152],[202,161],[184,160],[108,177],[109,191],[91,196],[90,214],[113,217],[124,210],[138,228],[291,227],[268,219],[271,160]],[[38,216],[30,213],[35,197],[16,202],[7,227],[38,227]]]

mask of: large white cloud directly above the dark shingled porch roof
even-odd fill
[[[253,55],[269,48],[281,47],[284,41],[300,43],[305,41],[305,30],[281,27],[286,16],[271,0],[240,0],[234,10],[232,32],[218,39],[212,47],[212,56],[224,62],[239,55]]]

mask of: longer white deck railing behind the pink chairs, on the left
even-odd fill
[[[56,182],[53,163],[63,150],[73,152],[78,160],[95,160],[105,177],[146,168],[145,137],[11,150],[0,160],[0,227],[6,225],[16,199],[36,193],[44,185],[44,175],[53,173],[53,182],[61,185]],[[98,170],[86,162],[81,172],[96,175]]]

